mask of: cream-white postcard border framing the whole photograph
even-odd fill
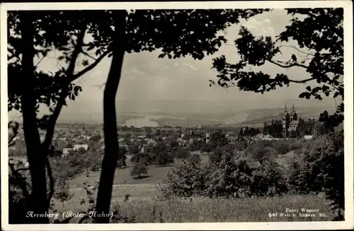
[[[7,23],[11,10],[78,9],[181,9],[181,8],[344,8],[344,82],[345,82],[345,175],[346,214],[343,222],[274,223],[147,223],[147,224],[50,224],[8,225],[8,180],[1,180],[1,229],[4,230],[332,230],[352,229],[353,213],[353,6],[352,1],[205,1],[205,2],[81,2],[81,3],[6,3],[1,4],[1,178],[8,175],[7,147]]]

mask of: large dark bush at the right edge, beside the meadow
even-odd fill
[[[302,194],[325,191],[333,201],[336,220],[344,219],[344,134],[343,130],[317,136],[297,149],[290,163],[288,182]]]

